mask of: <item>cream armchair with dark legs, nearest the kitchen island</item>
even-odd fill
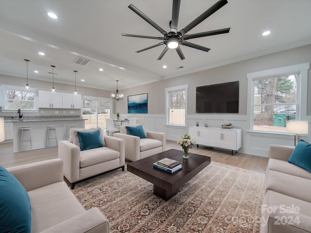
[[[69,141],[58,142],[58,157],[64,161],[64,176],[71,183],[71,189],[86,178],[118,168],[124,171],[124,140],[122,139],[104,136],[102,139],[104,147],[80,151],[78,142],[75,142],[77,139],[72,138],[73,134],[92,130],[70,129]]]

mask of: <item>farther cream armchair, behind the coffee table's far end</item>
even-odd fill
[[[114,137],[124,140],[125,159],[130,161],[137,161],[139,159],[143,159],[165,151],[165,133],[157,133],[144,130],[147,138],[140,138],[138,136],[129,135],[126,130],[126,126],[130,125],[121,125],[120,133],[113,134]]]

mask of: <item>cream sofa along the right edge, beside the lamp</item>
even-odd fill
[[[311,233],[311,172],[288,162],[293,150],[269,147],[260,233]]]

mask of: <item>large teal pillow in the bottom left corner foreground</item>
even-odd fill
[[[0,232],[30,233],[28,193],[7,169],[0,166]]]

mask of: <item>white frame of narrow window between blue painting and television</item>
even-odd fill
[[[169,126],[182,126],[186,127],[187,126],[187,113],[188,113],[188,84],[185,85],[179,85],[179,86],[172,86],[172,87],[167,87],[165,88],[165,116],[166,116],[166,125]],[[186,98],[185,98],[185,125],[174,125],[170,124],[170,92],[172,91],[185,91]]]

